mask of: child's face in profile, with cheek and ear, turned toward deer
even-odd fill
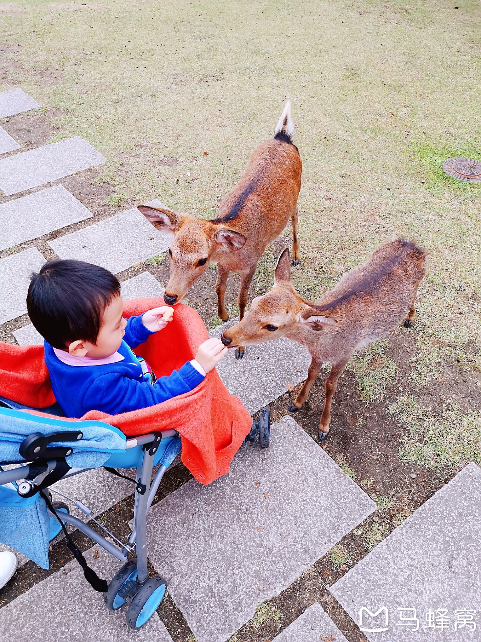
[[[97,336],[97,343],[89,341],[74,342],[69,347],[69,352],[74,356],[87,356],[91,359],[105,359],[117,352],[122,336],[125,334],[126,320],[122,317],[123,301],[119,295],[112,299],[103,312],[103,320],[100,332]],[[74,347],[75,344],[78,344]]]

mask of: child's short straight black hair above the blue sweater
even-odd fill
[[[103,311],[120,294],[112,272],[83,261],[48,261],[33,274],[27,309],[31,322],[54,348],[76,340],[96,344]]]

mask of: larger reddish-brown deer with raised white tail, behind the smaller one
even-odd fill
[[[299,264],[298,196],[302,161],[292,144],[294,123],[287,101],[274,129],[274,139],[254,150],[246,173],[224,198],[213,221],[174,212],[168,207],[140,205],[139,210],[159,230],[173,232],[169,248],[171,273],[165,288],[167,304],[178,303],[190,286],[217,261],[218,314],[226,321],[224,294],[229,272],[241,273],[237,299],[239,318],[244,317],[249,285],[260,256],[292,220],[292,263]],[[241,359],[244,347],[235,357]]]

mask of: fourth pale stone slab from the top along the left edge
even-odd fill
[[[94,216],[63,185],[0,205],[0,250]]]

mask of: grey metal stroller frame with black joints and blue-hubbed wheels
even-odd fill
[[[42,437],[44,436],[42,435]],[[158,608],[158,605],[164,597],[165,590],[167,589],[167,582],[163,578],[158,576],[149,578],[146,532],[146,518],[149,508],[152,505],[160,482],[167,470],[165,465],[160,464],[153,480],[151,479],[155,453],[162,438],[167,437],[179,438],[180,435],[176,430],[171,429],[162,432],[148,433],[135,438],[127,438],[126,440],[126,450],[142,446],[144,453],[142,465],[137,467],[133,528],[127,538],[128,543],[123,545],[122,548],[119,548],[114,543],[108,541],[106,537],[103,537],[103,535],[99,534],[87,523],[81,521],[81,519],[72,516],[68,512],[62,511],[60,513],[63,522],[69,523],[75,528],[78,528],[78,530],[87,535],[87,537],[92,539],[96,544],[104,548],[108,553],[114,555],[114,557],[121,562],[126,562],[126,564],[117,571],[116,575],[108,585],[104,601],[108,609],[115,611],[128,600],[130,602],[130,608],[128,609],[126,620],[132,629],[140,629],[140,627],[149,620]],[[27,439],[31,439],[31,437],[27,437],[26,440]],[[51,450],[53,453],[54,449]],[[47,469],[45,470],[44,465],[44,469],[38,473],[38,464],[40,464],[40,462],[42,462],[42,464],[46,464]],[[0,467],[0,485],[6,485],[12,482],[21,482],[21,480],[24,480],[18,485],[19,495],[23,494],[24,496],[31,496],[32,494],[35,494],[35,492],[39,492],[40,489],[48,492],[48,486],[44,485],[42,482],[44,482],[49,474],[54,473],[62,462],[65,462],[63,458],[55,456],[53,458],[49,458],[49,448],[47,447],[42,453],[42,459],[37,460],[37,463],[35,462],[35,459],[31,464],[26,460],[25,464],[8,471],[4,471]],[[92,469],[71,468],[67,473],[60,476],[60,478],[69,478],[89,470]],[[55,490],[53,492],[55,492]],[[56,519],[60,521],[57,511],[55,511],[54,514],[50,508],[47,507],[47,514],[49,517],[56,517]],[[104,527],[102,526],[102,528]],[[114,535],[110,534],[108,530],[106,530],[106,532],[114,537]],[[115,537],[114,539],[119,542]],[[121,542],[119,543],[121,544]],[[134,550],[137,557],[128,561],[129,553]],[[94,585],[92,584],[92,586]],[[105,592],[105,589],[97,590]]]

